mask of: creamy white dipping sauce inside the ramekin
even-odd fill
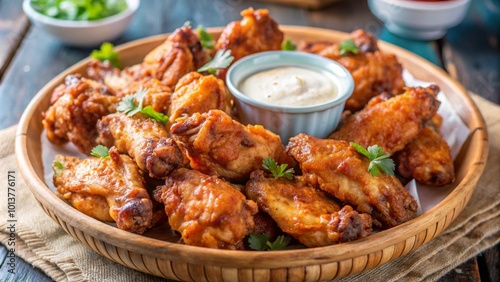
[[[239,89],[246,96],[276,106],[304,107],[323,104],[337,95],[327,74],[300,67],[279,67],[253,74]]]

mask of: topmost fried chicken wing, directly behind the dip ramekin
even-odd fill
[[[254,53],[281,50],[284,34],[268,10],[248,8],[241,12],[241,16],[241,21],[229,23],[224,28],[215,45],[216,50],[231,50],[233,63]],[[219,70],[217,75],[224,78],[225,70]]]

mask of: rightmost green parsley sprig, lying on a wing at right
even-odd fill
[[[385,174],[391,176],[394,175],[394,161],[389,158],[391,154],[384,153],[384,150],[378,145],[369,146],[368,150],[363,146],[350,142],[349,145],[354,147],[358,153],[364,155],[370,160],[370,166],[368,167],[368,172],[374,176],[380,175],[380,170],[383,170]]]

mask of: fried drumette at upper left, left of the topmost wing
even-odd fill
[[[143,83],[145,79],[157,79],[164,86],[174,88],[182,76],[197,70],[209,60],[210,54],[203,49],[196,33],[191,27],[183,26],[148,53],[140,64],[120,71],[109,63],[93,61],[87,67],[87,74],[103,81],[120,96],[119,93],[133,92],[130,86]]]

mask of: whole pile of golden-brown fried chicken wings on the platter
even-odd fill
[[[133,233],[168,224],[188,245],[248,249],[249,234],[267,232],[319,247],[415,218],[417,202],[402,184],[408,179],[433,186],[454,181],[450,149],[439,134],[438,87],[405,87],[396,56],[363,30],[351,33],[356,54],[341,55],[339,42],[297,42],[297,52],[335,60],[354,77],[343,120],[328,138],[281,140],[261,125],[240,123],[226,69],[215,75],[197,69],[218,50],[231,50],[236,61],[280,50],[285,40],[267,10],[241,14],[213,50],[183,26],[137,65],[118,69],[94,60],[84,73],[68,75],[43,125],[51,142],[71,142],[88,157],[56,156],[58,195]],[[167,123],[117,110],[141,89],[147,89],[143,105],[167,115]],[[349,142],[383,148],[396,175],[372,175],[370,161]],[[109,148],[109,156],[90,156],[97,145]],[[266,158],[293,168],[294,176],[273,177],[263,169]]]

